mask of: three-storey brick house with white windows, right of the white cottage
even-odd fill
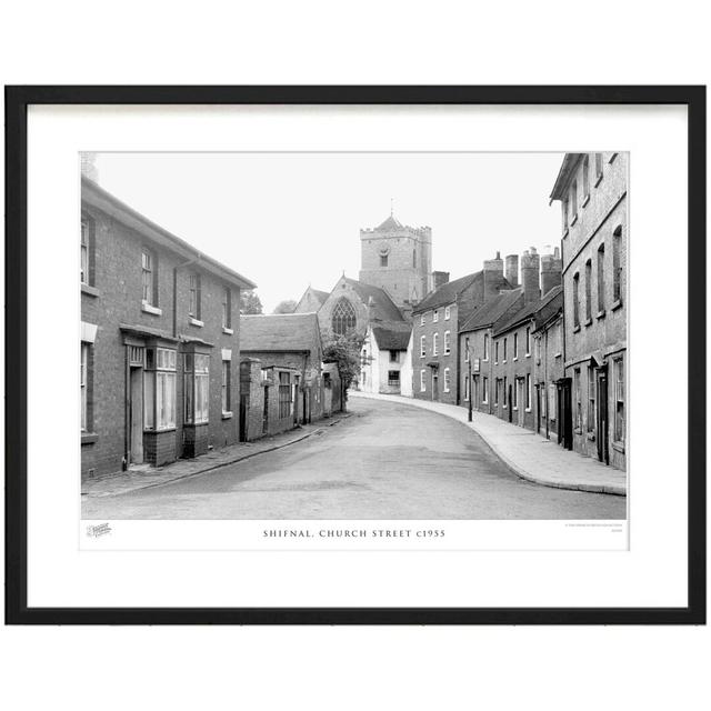
[[[503,262],[484,262],[484,269],[442,283],[412,310],[413,395],[421,400],[460,402],[459,331],[475,309],[512,284]]]

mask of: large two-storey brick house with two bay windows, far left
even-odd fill
[[[240,290],[254,284],[81,181],[81,473],[238,441]]]

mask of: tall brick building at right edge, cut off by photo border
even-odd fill
[[[551,200],[562,216],[563,397],[572,445],[627,468],[627,153],[568,153]]]

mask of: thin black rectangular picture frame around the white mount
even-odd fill
[[[6,623],[704,624],[705,87],[6,87]],[[27,112],[31,104],[683,104],[688,109],[688,590],[683,608],[29,608]]]

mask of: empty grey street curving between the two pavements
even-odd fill
[[[84,499],[84,519],[624,519],[625,498],[542,487],[438,413],[349,401],[351,417],[192,478]]]

